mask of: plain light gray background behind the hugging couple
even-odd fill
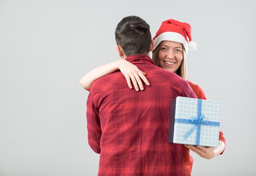
[[[119,59],[114,31],[130,15],[146,20],[152,37],[164,20],[191,24],[188,78],[222,101],[225,153],[192,152],[192,176],[255,175],[252,2],[0,0],[0,176],[97,175],[79,80]]]

